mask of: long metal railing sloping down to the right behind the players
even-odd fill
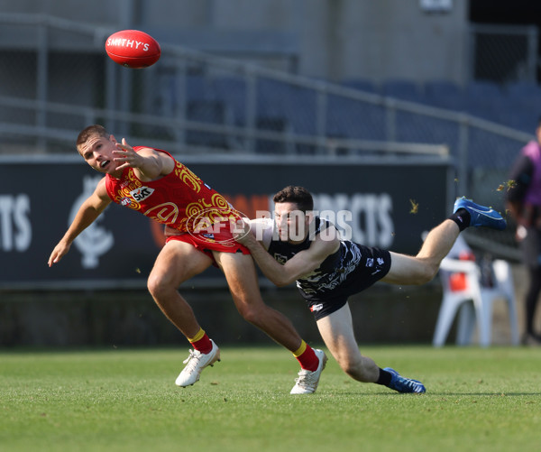
[[[104,51],[115,30],[46,15],[0,14],[0,23],[2,153],[73,152],[78,132],[100,123],[183,155],[425,155],[454,161],[456,194],[493,204],[531,139],[463,112],[169,43],[151,68],[124,69]]]

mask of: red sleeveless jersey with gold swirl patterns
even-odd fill
[[[133,148],[135,152],[141,149]],[[173,158],[169,152],[156,151]],[[159,180],[144,182],[135,176],[133,168],[126,168],[120,179],[106,174],[105,187],[115,203],[180,232],[200,233],[215,223],[239,218],[222,195],[176,160],[175,169]]]

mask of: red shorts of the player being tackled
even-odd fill
[[[166,243],[170,240],[178,240],[193,245],[198,251],[205,253],[214,261],[213,251],[220,253],[250,254],[250,250],[243,244],[239,244],[233,238],[228,222],[217,223],[206,231],[195,233],[181,233],[169,235]]]

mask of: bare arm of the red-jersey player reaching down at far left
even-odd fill
[[[49,266],[58,263],[69,252],[69,247],[76,237],[90,226],[110,203],[111,198],[107,195],[104,178],[99,181],[94,193],[83,202],[68,231],[52,250],[48,262]]]

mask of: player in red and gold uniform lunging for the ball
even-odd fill
[[[198,324],[194,311],[178,291],[180,284],[214,264],[224,272],[234,305],[243,318],[297,357],[307,384],[296,384],[298,389],[292,393],[315,392],[326,355],[308,346],[289,319],[261,299],[252,256],[232,234],[231,227],[239,214],[225,198],[169,152],[133,148],[124,139],[118,143],[101,125],[84,129],[78,135],[77,148],[85,161],[105,177],[50,254],[49,266],[69,252],[75,238],[112,201],[139,211],[174,231],[158,254],[147,285],[161,311],[194,347],[176,384],[196,383],[201,371],[220,358],[215,342]]]

